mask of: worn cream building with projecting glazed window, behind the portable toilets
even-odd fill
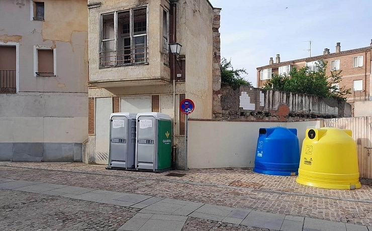
[[[110,114],[120,111],[169,114],[176,158],[182,159],[185,117],[179,102],[192,99],[190,118],[198,119],[211,119],[221,107],[221,9],[208,0],[89,0],[88,9],[89,138],[83,161],[108,163]],[[174,43],[182,45],[176,56],[169,51]]]

